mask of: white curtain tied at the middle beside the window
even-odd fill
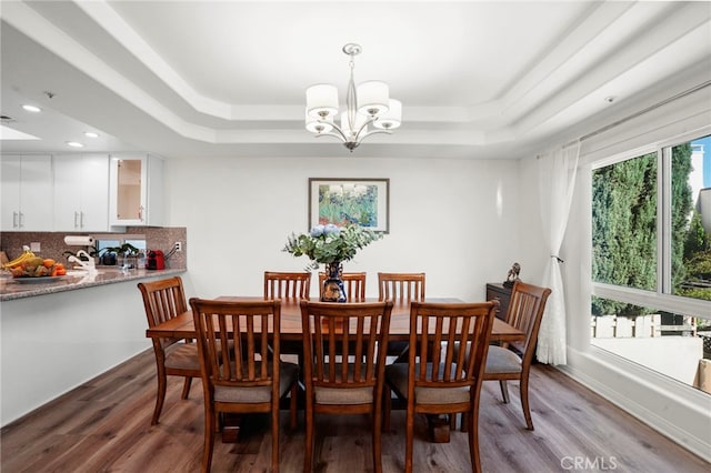
[[[565,364],[565,293],[559,252],[565,234],[575,185],[580,141],[538,159],[541,222],[550,258],[543,285],[551,289],[538,335],[535,356],[541,363]]]

